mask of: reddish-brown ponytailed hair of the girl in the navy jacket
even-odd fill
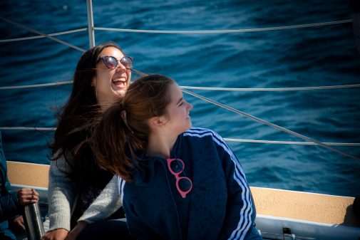
[[[174,80],[163,75],[148,75],[130,85],[123,100],[103,115],[91,138],[91,147],[99,167],[131,182],[135,170],[135,152],[148,147],[148,120],[166,115],[170,103],[168,89]],[[125,145],[130,155],[125,154]]]

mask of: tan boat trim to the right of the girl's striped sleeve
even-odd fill
[[[251,187],[257,214],[360,227],[354,197]]]

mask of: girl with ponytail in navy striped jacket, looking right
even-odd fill
[[[149,75],[135,80],[94,130],[98,165],[119,176],[130,233],[261,239],[239,160],[216,132],[191,127],[191,109],[172,79]]]

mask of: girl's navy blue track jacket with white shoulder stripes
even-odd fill
[[[171,158],[185,163],[180,177],[192,179],[185,198],[161,157],[140,161],[133,182],[119,177],[130,233],[137,239],[246,239],[256,215],[254,201],[240,162],[222,137],[192,127],[178,136]]]

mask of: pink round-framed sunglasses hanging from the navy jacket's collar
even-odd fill
[[[191,179],[188,177],[179,177],[185,168],[184,162],[180,158],[168,158],[168,169],[175,176],[176,188],[180,193],[181,197],[185,198],[192,189]]]

